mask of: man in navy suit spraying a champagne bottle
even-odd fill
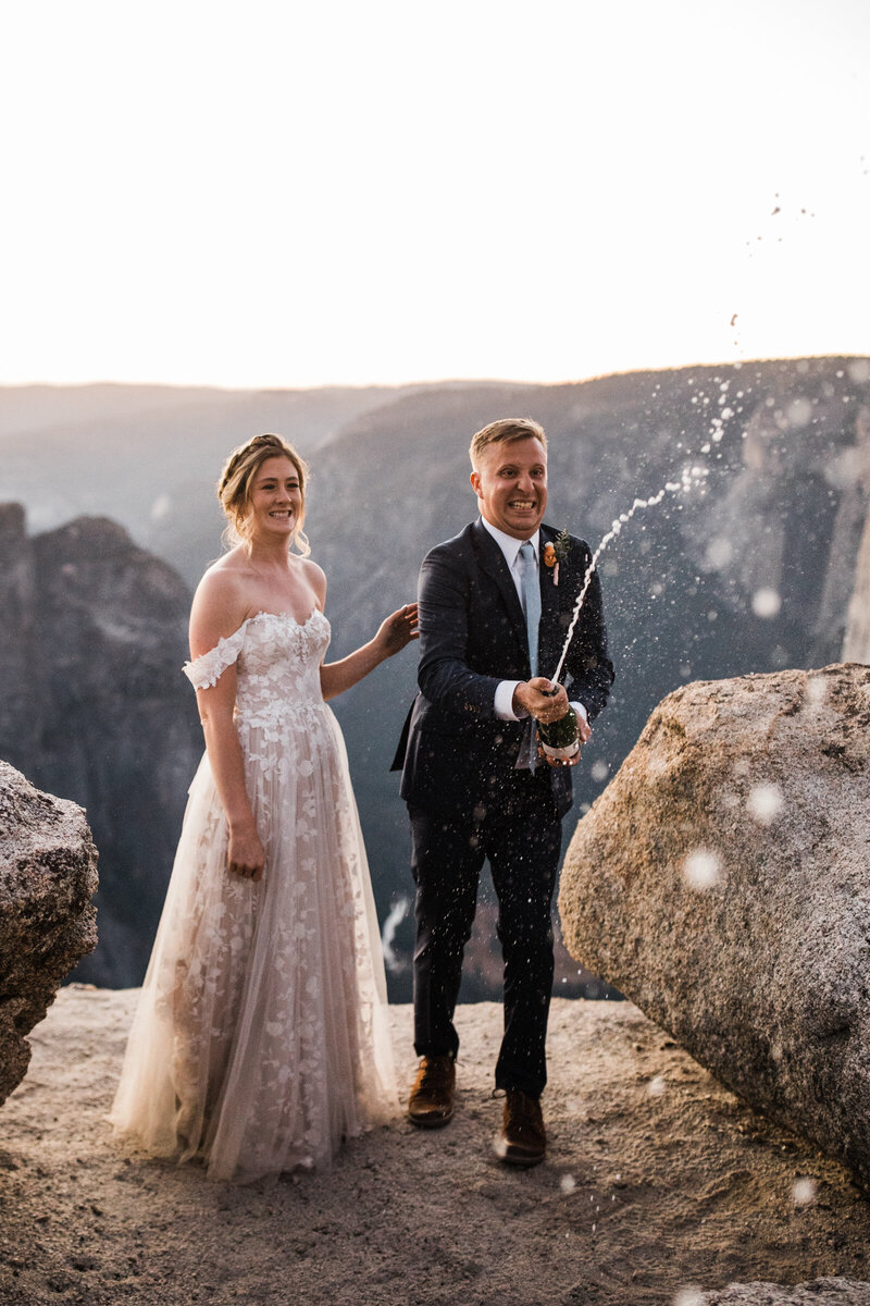
[[[537,756],[533,718],[569,710],[545,691],[590,549],[543,525],[547,436],[537,422],[492,422],[471,441],[480,517],[427,555],[420,571],[417,695],[399,744],[416,882],[415,1049],[408,1101],[415,1124],[453,1117],[459,1038],[453,1024],[477,880],[489,861],[505,963],[505,1034],[496,1088],[505,1092],[500,1155],[544,1158],[540,1096],[553,985],[550,904],[573,763]],[[537,675],[540,669],[543,675]],[[586,594],[562,679],[580,738],[605,705],[607,656],[597,575]]]

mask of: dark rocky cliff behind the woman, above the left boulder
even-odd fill
[[[189,593],[106,518],[25,534],[0,507],[0,757],[87,810],[99,947],[76,977],[141,978],[201,751],[180,674]]]

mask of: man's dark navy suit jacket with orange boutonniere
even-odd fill
[[[541,525],[540,551],[556,541]],[[591,554],[571,537],[554,571],[540,563],[539,675],[550,678],[562,652]],[[526,618],[505,555],[480,518],[427,555],[420,569],[420,692],[404,724],[393,769],[411,806],[460,818],[500,806],[513,790],[528,726],[493,710],[500,680],[528,680]],[[613,666],[607,653],[601,588],[592,575],[561,677],[590,721],[605,705]],[[571,806],[567,767],[543,768],[560,816]],[[536,791],[540,791],[536,786]]]

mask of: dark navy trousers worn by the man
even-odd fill
[[[549,789],[541,785],[545,777],[526,772],[517,780],[540,794],[526,810],[477,807],[458,815],[408,804],[417,891],[415,1049],[417,1057],[455,1057],[459,1049],[453,1016],[480,870],[488,859],[505,963],[505,1034],[496,1088],[540,1097],[547,1083],[552,901],[562,831]]]

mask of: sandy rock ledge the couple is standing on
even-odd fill
[[[446,1130],[399,1118],[329,1173],[233,1188],[113,1147],[104,1114],[134,1000],[65,989],[34,1030],[0,1117],[3,1306],[626,1306],[689,1285],[870,1279],[870,1205],[849,1175],[629,1003],[554,1002],[537,1169],[492,1151],[501,1007],[481,1003],[459,1013]],[[393,1029],[410,1080],[408,1007]]]

